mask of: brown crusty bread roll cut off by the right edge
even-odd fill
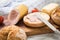
[[[55,13],[51,14],[51,19],[55,24],[60,25],[60,8]]]

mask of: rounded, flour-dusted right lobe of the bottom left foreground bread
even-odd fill
[[[22,29],[13,30],[9,33],[7,40],[26,40],[26,34]]]

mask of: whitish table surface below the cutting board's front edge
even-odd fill
[[[27,40],[60,40],[60,35],[55,33],[29,36]]]

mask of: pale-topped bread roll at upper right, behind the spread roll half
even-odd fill
[[[58,7],[59,7],[59,4],[50,3],[42,8],[42,12],[45,12],[45,13],[51,15],[51,13],[54,13]]]

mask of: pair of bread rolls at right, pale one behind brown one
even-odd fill
[[[42,8],[42,12],[45,12],[51,16],[51,19],[55,24],[60,25],[60,6],[57,3],[51,3]]]

